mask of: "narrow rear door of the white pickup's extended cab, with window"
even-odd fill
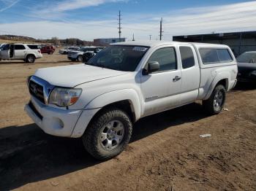
[[[197,99],[200,85],[200,68],[194,47],[181,45],[178,50],[181,56],[181,104],[188,104]]]

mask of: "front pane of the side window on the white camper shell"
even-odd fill
[[[219,63],[217,49],[214,48],[201,48],[199,50],[203,64]]]

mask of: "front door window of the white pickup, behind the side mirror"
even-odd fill
[[[173,47],[166,47],[156,50],[148,59],[148,62],[154,61],[157,61],[159,63],[159,71],[177,69],[176,52]]]

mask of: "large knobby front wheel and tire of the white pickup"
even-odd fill
[[[131,136],[132,122],[128,115],[120,109],[111,108],[103,110],[90,122],[82,140],[86,151],[93,157],[108,160],[124,151]]]

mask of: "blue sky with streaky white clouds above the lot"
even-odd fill
[[[118,37],[163,39],[175,35],[256,31],[256,1],[238,0],[0,0],[0,34],[46,39]]]

